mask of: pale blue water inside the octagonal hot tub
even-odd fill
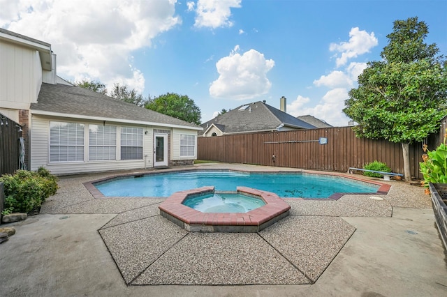
[[[186,198],[182,204],[202,213],[248,213],[265,202],[247,195],[214,193]]]

